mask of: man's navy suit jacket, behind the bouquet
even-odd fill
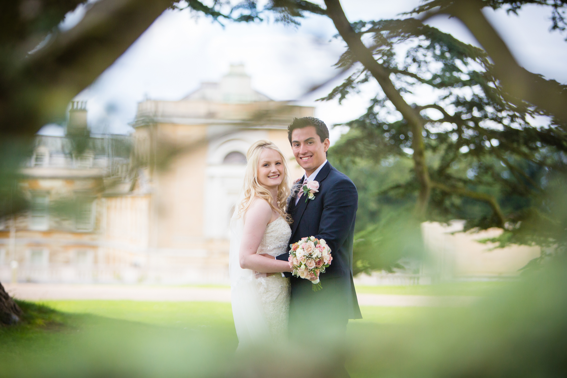
[[[312,315],[328,318],[331,312],[337,320],[362,318],[353,282],[353,240],[354,222],[358,208],[356,186],[327,162],[315,180],[319,182],[319,192],[314,199],[301,196],[295,205],[291,198],[287,211],[293,218],[289,244],[302,237],[315,236],[325,239],[333,261],[325,273],[320,274],[323,289],[314,292],[313,284],[307,280],[291,277],[290,320],[310,309]],[[287,260],[289,254],[278,256]],[[286,277],[291,274],[287,273]],[[309,311],[307,311],[309,312]]]

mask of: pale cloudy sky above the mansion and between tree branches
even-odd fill
[[[397,18],[411,10],[418,0],[343,0],[346,16],[356,20]],[[567,83],[565,35],[549,32],[550,12],[526,6],[519,16],[504,11],[486,11],[494,27],[526,69],[546,78]],[[69,16],[76,23],[81,12]],[[475,44],[458,20],[438,17],[429,24],[458,39]],[[332,67],[344,52],[344,42],[333,39],[336,29],[323,16],[310,16],[295,28],[273,23],[230,24],[223,28],[210,19],[194,19],[188,11],[166,11],[109,67],[90,88],[77,96],[87,100],[88,122],[95,132],[129,133],[138,101],[146,96],[156,100],[179,100],[200,82],[217,81],[230,63],[244,63],[252,86],[274,100],[299,100],[315,106],[315,116],[327,125],[357,118],[374,97],[377,84],[362,88],[360,94],[337,101],[315,102],[340,80],[304,97],[314,84],[335,74]],[[57,133],[52,128],[44,133]],[[337,128],[332,142],[340,136]]]

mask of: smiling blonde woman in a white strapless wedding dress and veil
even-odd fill
[[[257,141],[247,153],[240,201],[230,222],[232,315],[239,349],[282,338],[287,333],[291,271],[276,256],[288,251],[290,194],[285,156],[270,141]]]

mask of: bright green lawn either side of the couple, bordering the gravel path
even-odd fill
[[[455,287],[358,286],[358,292],[405,295],[482,295],[501,283]],[[113,300],[18,302],[22,324],[0,328],[0,378],[218,376],[230,365],[238,338],[230,303]],[[422,321],[455,315],[456,308],[361,308],[349,322],[354,342],[410,334]],[[409,337],[409,336],[404,336]],[[218,361],[221,358],[222,361]],[[33,363],[29,363],[33,362]],[[353,376],[356,367],[351,367]],[[117,373],[121,372],[121,373]]]

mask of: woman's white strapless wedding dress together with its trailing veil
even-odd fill
[[[290,299],[289,278],[282,277],[281,273],[268,277],[256,275],[252,270],[240,267],[238,254],[242,228],[242,218],[233,217],[230,224],[229,273],[232,315],[239,349],[270,338],[285,338]],[[286,253],[290,236],[291,228],[280,216],[266,226],[256,253],[274,257]]]

